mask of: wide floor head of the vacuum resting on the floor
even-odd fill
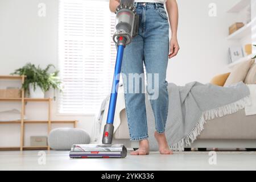
[[[123,144],[73,144],[70,158],[125,158],[126,147]]]

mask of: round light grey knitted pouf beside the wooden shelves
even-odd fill
[[[69,127],[53,129],[49,133],[48,144],[53,150],[70,150],[72,144],[88,144],[90,137],[85,130]]]

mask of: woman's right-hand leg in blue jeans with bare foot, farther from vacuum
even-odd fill
[[[147,92],[155,116],[155,138],[160,154],[172,154],[164,135],[168,114],[166,71],[169,53],[169,24],[163,6],[147,8],[144,32],[144,64]]]

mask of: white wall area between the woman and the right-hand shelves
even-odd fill
[[[217,16],[210,17],[209,4],[216,3]],[[181,0],[178,39],[180,52],[168,65],[168,82],[184,85],[207,83],[214,75],[228,72],[228,27],[236,15],[226,11],[234,0]]]

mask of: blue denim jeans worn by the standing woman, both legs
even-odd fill
[[[158,91],[158,97],[150,100],[155,116],[155,129],[164,133],[168,113],[168,92],[166,69],[169,53],[169,23],[164,6],[161,3],[135,3],[139,17],[139,35],[133,38],[126,46],[122,75],[128,78],[129,74],[143,75],[143,63],[147,73],[147,92],[152,94]],[[149,75],[154,89],[148,88]],[[154,77],[158,75],[158,82],[154,84]],[[124,76],[122,76],[123,78]],[[124,80],[124,79],[123,79]],[[148,138],[145,94],[143,92],[144,78],[139,81],[140,92],[130,92],[130,86],[135,81],[123,81],[125,91],[126,115],[130,131],[130,140]],[[135,89],[136,90],[136,89]],[[137,90],[138,91],[138,90]]]

